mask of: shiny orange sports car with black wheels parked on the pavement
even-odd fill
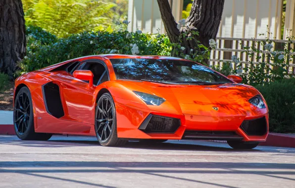
[[[253,87],[175,57],[93,55],[16,79],[14,128],[21,140],[52,134],[128,140],[223,140],[254,148],[268,135],[268,108]]]

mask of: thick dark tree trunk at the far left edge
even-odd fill
[[[25,19],[21,0],[0,0],[0,72],[13,78],[26,54]]]

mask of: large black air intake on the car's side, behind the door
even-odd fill
[[[43,98],[47,112],[56,117],[60,118],[64,116],[59,87],[52,82],[49,82],[43,86]]]

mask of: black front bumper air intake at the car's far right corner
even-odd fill
[[[241,128],[249,136],[263,136],[267,132],[266,119],[262,117],[254,120],[245,120]]]

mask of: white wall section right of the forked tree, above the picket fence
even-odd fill
[[[225,0],[218,37],[264,39],[281,36],[282,0]],[[268,26],[268,28],[267,28]]]

